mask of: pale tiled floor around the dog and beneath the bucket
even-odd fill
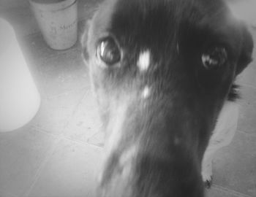
[[[94,6],[87,4],[89,10]],[[51,50],[39,33],[21,43],[42,104],[28,125],[0,133],[0,197],[92,197],[103,141],[80,45]],[[256,196],[255,76],[256,61],[238,77],[243,93],[238,132],[217,153],[208,197]]]

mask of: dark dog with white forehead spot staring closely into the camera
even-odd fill
[[[106,131],[100,196],[203,196],[236,131],[244,24],[220,0],[109,0],[83,46]]]

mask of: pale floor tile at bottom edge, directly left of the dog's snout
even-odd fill
[[[101,164],[99,148],[61,140],[29,194],[30,197],[92,197]]]

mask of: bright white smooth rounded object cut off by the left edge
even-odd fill
[[[4,132],[28,123],[39,109],[40,96],[14,29],[0,18],[0,30],[0,132]]]

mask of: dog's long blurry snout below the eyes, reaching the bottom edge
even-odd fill
[[[150,90],[143,91],[148,96]],[[192,142],[199,128],[189,107],[178,107],[172,96],[125,102],[110,117],[115,121],[106,142],[105,195],[203,196],[200,163],[193,158],[198,144]]]

